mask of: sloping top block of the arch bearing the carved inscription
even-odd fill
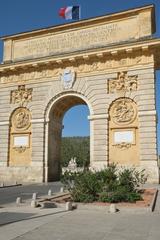
[[[149,5],[2,37],[4,41],[3,62],[90,52],[94,49],[141,41],[144,38],[150,38],[154,32],[154,6]]]

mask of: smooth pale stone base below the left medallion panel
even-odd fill
[[[41,183],[42,167],[1,167],[0,182]]]

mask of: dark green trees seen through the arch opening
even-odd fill
[[[61,165],[67,167],[76,157],[78,167],[87,166],[90,159],[89,137],[63,137],[61,144]]]

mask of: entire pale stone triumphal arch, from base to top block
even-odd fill
[[[63,116],[84,104],[90,167],[145,168],[158,182],[154,33],[150,5],[3,37],[0,181],[58,179]]]

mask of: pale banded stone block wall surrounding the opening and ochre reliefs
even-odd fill
[[[154,68],[151,64],[137,68],[133,66],[131,69],[128,68],[127,74],[137,75],[138,87],[136,91],[124,93],[108,93],[107,84],[108,79],[114,79],[117,74],[121,72],[120,69],[116,71],[111,71],[104,73],[90,73],[87,76],[77,75],[75,83],[72,89],[63,90],[61,81],[57,79],[47,78],[40,79],[40,83],[36,81],[25,85],[27,88],[32,88],[32,101],[27,103],[27,108],[32,113],[32,163],[31,166],[35,169],[31,176],[28,176],[28,181],[34,179],[44,180],[44,170],[38,171],[37,167],[42,168],[47,162],[46,144],[47,139],[45,135],[47,121],[47,109],[52,105],[52,99],[57,99],[61,96],[72,96],[84,97],[87,99],[86,104],[90,109],[90,131],[91,131],[91,167],[102,168],[107,166],[109,162],[109,149],[108,149],[108,111],[109,107],[115,99],[119,97],[131,98],[135,101],[138,108],[138,118],[139,118],[139,136],[140,136],[140,165],[142,167],[147,167],[155,169],[154,174],[152,174],[152,180],[157,179],[156,161],[157,161],[157,148],[156,148],[156,110],[155,110],[155,75]],[[126,70],[126,69],[125,69]],[[43,81],[43,82],[42,82]],[[20,83],[21,84],[21,83]],[[9,160],[9,121],[10,116],[14,109],[16,109],[18,104],[10,103],[10,93],[11,91],[17,89],[18,84],[11,86],[3,86],[0,90],[0,165],[7,166]],[[15,168],[14,168],[15,169]],[[25,169],[22,167],[22,169]],[[26,171],[31,171],[30,167],[26,167]],[[1,168],[1,176],[4,176],[4,168]],[[8,174],[9,171],[9,174]],[[7,167],[5,170],[6,178],[12,178],[12,171],[18,172],[17,170],[11,170]],[[24,171],[24,170],[23,170]],[[25,171],[24,171],[25,172]],[[43,172],[43,174],[42,174]],[[156,175],[155,175],[156,172]],[[38,174],[38,175],[37,175]],[[41,176],[41,174],[43,176]],[[15,176],[16,173],[15,173]],[[23,176],[23,174],[22,174]],[[16,177],[14,177],[16,178]],[[19,174],[17,179],[21,179]],[[26,178],[21,179],[21,181],[26,180]],[[151,181],[152,181],[151,180]]]

